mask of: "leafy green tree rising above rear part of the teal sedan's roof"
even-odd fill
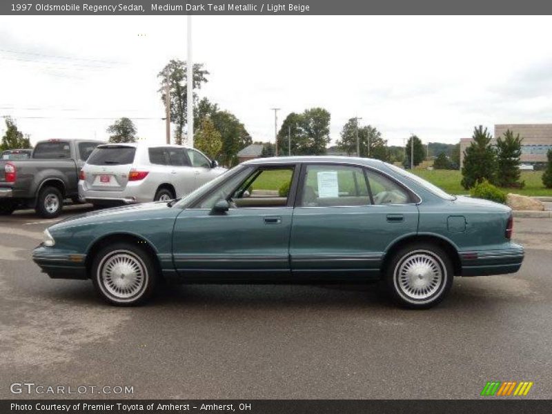
[[[337,141],[339,149],[344,150],[348,155],[357,153],[357,122],[356,118],[349,119],[342,128],[341,140]],[[382,132],[377,128],[370,125],[359,127],[358,139],[360,157],[371,157],[382,161],[391,159],[387,141],[382,138]]]

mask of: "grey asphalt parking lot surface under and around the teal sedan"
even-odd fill
[[[53,222],[0,217],[1,398],[45,397],[13,395],[14,382],[133,386],[134,398],[475,398],[489,380],[552,397],[552,219],[515,219],[519,273],[457,278],[429,311],[375,286],[163,286],[114,308],[31,261]]]

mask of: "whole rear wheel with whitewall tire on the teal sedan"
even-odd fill
[[[433,244],[413,243],[393,255],[385,282],[391,299],[411,309],[439,304],[451,290],[454,271],[446,252]]]

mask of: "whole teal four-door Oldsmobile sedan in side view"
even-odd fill
[[[510,208],[455,197],[374,159],[247,161],[183,199],[72,217],[33,259],[52,278],[92,279],[110,304],[139,304],[160,279],[186,283],[380,280],[428,308],[453,276],[515,273]]]

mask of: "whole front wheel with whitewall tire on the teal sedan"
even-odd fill
[[[150,253],[122,242],[99,250],[92,261],[90,278],[101,298],[115,306],[145,303],[158,279]]]

